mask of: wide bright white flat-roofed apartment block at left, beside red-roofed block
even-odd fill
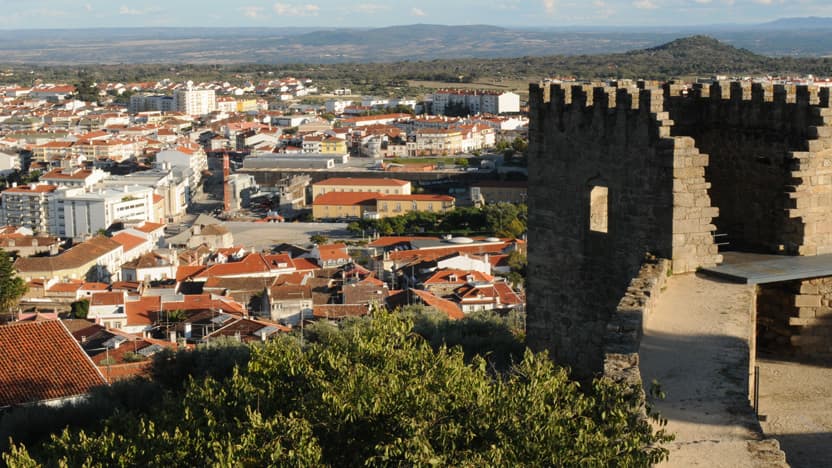
[[[50,233],[59,237],[88,236],[116,221],[138,223],[156,219],[153,189],[138,185],[120,190],[100,188],[95,192],[63,188],[55,191],[51,202],[56,216],[50,219]]]

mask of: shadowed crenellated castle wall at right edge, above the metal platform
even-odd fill
[[[744,250],[832,252],[829,89],[718,82],[665,85],[674,135],[710,155],[717,231]]]

